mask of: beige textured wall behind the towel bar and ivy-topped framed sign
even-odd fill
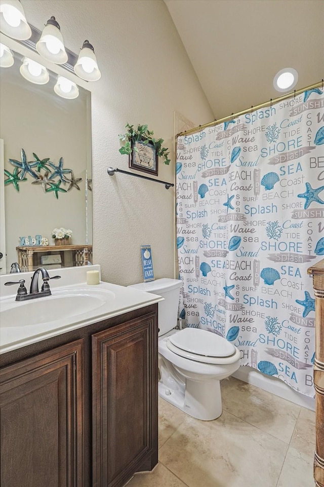
[[[124,174],[118,153],[127,122],[148,124],[172,149],[158,177],[173,181],[173,111],[195,125],[213,119],[211,108],[162,0],[22,0],[27,21],[42,29],[54,15],[65,46],[95,47],[102,77],[92,90],[94,263],[103,280],[127,285],[143,280],[141,244],[151,244],[155,278],[174,276],[175,192]],[[143,174],[144,173],[139,173]]]

